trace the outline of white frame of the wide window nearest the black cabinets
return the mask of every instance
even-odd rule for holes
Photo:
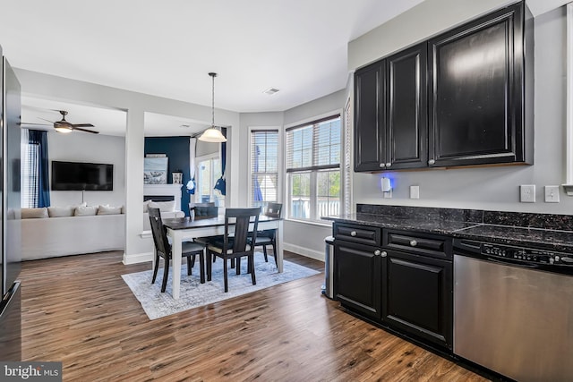
[[[314,116],[312,118],[308,118],[305,119],[303,121],[297,122],[297,123],[290,123],[288,125],[285,126],[285,149],[284,149],[284,161],[285,161],[285,179],[286,179],[286,187],[285,187],[285,218],[286,220],[292,220],[292,221],[298,221],[298,222],[304,222],[304,223],[312,223],[312,224],[319,224],[319,225],[329,225],[328,222],[321,220],[321,216],[318,216],[318,187],[317,187],[317,177],[318,177],[318,173],[321,171],[332,171],[332,170],[338,170],[338,172],[340,173],[340,192],[339,192],[339,213],[342,214],[343,213],[343,209],[344,209],[344,203],[343,203],[343,198],[344,198],[344,193],[345,191],[343,190],[343,179],[344,179],[344,153],[346,150],[346,141],[345,141],[345,125],[344,125],[344,120],[343,120],[343,111],[342,110],[335,110],[329,113],[325,113],[323,115],[317,115]],[[307,125],[312,125],[312,124],[316,124],[316,123],[322,123],[325,121],[328,121],[330,119],[336,119],[339,118],[339,123],[340,123],[340,137],[339,137],[339,141],[340,141],[340,158],[339,158],[339,162],[338,162],[338,167],[333,167],[333,166],[311,166],[311,167],[301,167],[299,169],[296,170],[288,170],[287,167],[287,156],[288,156],[288,142],[286,140],[286,133],[289,131],[292,131],[298,127],[303,128],[304,126]],[[312,140],[314,140],[315,137],[312,138]],[[313,142],[313,149],[314,149],[314,142]],[[312,165],[314,165],[314,153],[312,153]],[[291,195],[291,189],[292,189],[292,175],[291,174],[310,174],[310,196],[309,196],[309,210],[310,210],[310,214],[309,214],[309,218],[305,218],[305,217],[298,217],[298,216],[293,216],[293,211],[291,210],[291,205],[292,205],[292,195]]]

